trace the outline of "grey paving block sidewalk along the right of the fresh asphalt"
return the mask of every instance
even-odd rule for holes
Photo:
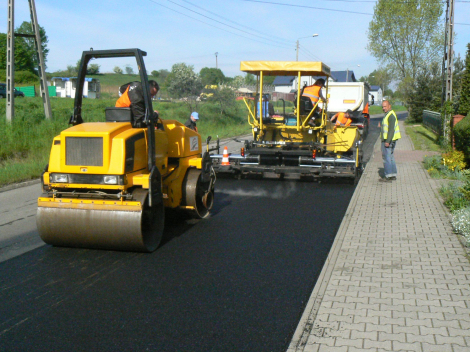
[[[470,264],[402,136],[392,183],[376,143],[288,352],[470,351]]]

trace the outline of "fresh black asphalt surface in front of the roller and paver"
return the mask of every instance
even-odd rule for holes
[[[46,245],[4,261],[0,350],[285,351],[353,192],[219,178],[211,217],[168,214],[154,253]]]

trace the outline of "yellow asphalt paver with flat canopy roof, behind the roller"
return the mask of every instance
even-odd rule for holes
[[[224,158],[212,155],[218,173],[275,173],[313,177],[349,177],[358,180],[363,168],[362,140],[356,126],[335,126],[329,120],[328,100],[318,108],[309,98],[297,94],[294,112],[273,114],[263,94],[265,76],[297,76],[301,92],[302,76],[326,78],[329,97],[330,68],[323,62],[242,61],[240,69],[257,77],[256,99],[244,99],[252,140],[241,141],[240,154]],[[285,102],[284,102],[285,103]],[[262,108],[260,108],[262,106]],[[315,120],[314,125],[308,122]],[[227,160],[228,159],[228,160]]]

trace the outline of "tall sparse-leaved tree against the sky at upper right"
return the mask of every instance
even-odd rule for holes
[[[412,87],[428,63],[439,61],[444,43],[440,0],[378,0],[369,23],[367,49]]]

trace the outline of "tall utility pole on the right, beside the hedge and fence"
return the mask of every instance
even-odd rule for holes
[[[445,46],[444,46],[444,59],[442,63],[444,75],[444,87],[442,103],[452,101],[452,75],[454,69],[454,5],[455,0],[447,0],[446,10],[446,33],[445,33]],[[449,139],[449,119],[447,111],[444,111],[444,140]]]

